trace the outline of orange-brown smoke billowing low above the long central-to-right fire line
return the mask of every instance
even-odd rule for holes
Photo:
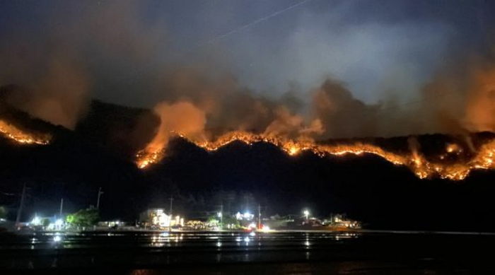
[[[185,100],[202,110],[205,121],[201,135],[209,141],[228,131],[316,141],[495,131],[492,71],[481,69],[477,63],[464,64],[462,70],[438,71],[409,103],[390,98],[366,104],[355,98],[344,83],[328,78],[308,92],[313,98],[310,105],[293,107],[300,106],[297,103],[302,100],[289,95],[289,101],[296,104],[288,104],[285,95],[265,98],[240,88],[231,77],[208,77],[196,70],[174,74],[162,83],[162,89],[169,103]],[[168,117],[168,110],[156,111]],[[177,131],[194,140],[200,134],[190,136],[177,127],[164,126],[166,120],[162,122],[161,131]]]

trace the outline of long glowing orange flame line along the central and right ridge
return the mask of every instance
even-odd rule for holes
[[[187,139],[185,136],[181,135],[181,137]],[[229,132],[214,141],[195,141],[193,139],[187,140],[201,148],[204,148],[206,151],[216,151],[234,141],[240,141],[248,145],[257,142],[274,144],[289,154],[289,156],[297,156],[303,151],[310,151],[320,157],[344,157],[349,155],[362,156],[363,154],[372,154],[375,156],[380,156],[394,165],[407,166],[407,168],[412,170],[412,172],[414,172],[414,174],[421,179],[441,177],[448,180],[462,180],[474,169],[489,170],[495,168],[495,141],[489,141],[480,146],[477,153],[475,153],[470,160],[444,161],[440,156],[439,159],[442,161],[434,162],[426,159],[421,155],[421,153],[415,150],[400,154],[385,151],[379,146],[366,144],[363,142],[356,142],[354,144],[328,145],[318,144],[314,141],[296,141],[273,136],[263,136],[261,134],[251,134],[243,131]],[[462,148],[460,148],[457,144],[448,144],[448,146],[445,147],[445,154],[452,154],[460,151],[462,151]],[[136,164],[139,168],[146,168],[148,165],[158,163],[163,156],[165,156],[165,151],[163,149],[149,153],[146,153],[146,151],[140,151],[136,156]]]

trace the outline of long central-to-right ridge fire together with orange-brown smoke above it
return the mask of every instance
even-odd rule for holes
[[[477,146],[473,146],[472,141],[462,141],[462,145],[433,144],[438,148],[433,154],[425,154],[414,139],[401,150],[366,140],[351,139],[344,144],[322,141],[429,133],[469,136],[467,133],[495,131],[491,96],[494,67],[477,64],[474,69],[467,69],[462,85],[450,83],[454,77],[435,78],[422,90],[414,107],[366,104],[354,98],[344,84],[327,79],[311,91],[312,100],[307,109],[298,110],[290,98],[257,98],[243,93],[235,84],[229,86],[221,81],[200,83],[191,88],[190,81],[177,76],[182,81],[175,80],[178,83],[170,90],[191,92],[182,97],[185,99],[165,100],[156,105],[154,111],[161,124],[155,137],[137,154],[136,163],[139,168],[157,163],[163,158],[170,137],[178,135],[206,151],[242,141],[274,144],[291,156],[302,151],[322,157],[373,154],[394,165],[406,166],[421,179],[463,180],[472,170],[495,168],[495,139]],[[174,79],[170,82],[175,83]],[[456,98],[455,102],[451,102],[451,98]]]

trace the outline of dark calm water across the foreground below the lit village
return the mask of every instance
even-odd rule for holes
[[[0,235],[0,274],[495,274],[495,236],[453,233]]]

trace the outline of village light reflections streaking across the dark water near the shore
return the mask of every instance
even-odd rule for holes
[[[291,251],[296,253],[298,249],[305,250],[301,254],[302,259],[311,259],[313,250],[318,247],[331,244],[332,242],[343,242],[351,238],[359,238],[359,233],[307,233],[307,232],[85,232],[85,233],[29,233],[28,235],[18,235],[21,242],[11,244],[0,243],[0,247],[8,250],[28,249],[28,250],[57,250],[57,254],[63,250],[84,249],[87,251],[104,251],[105,249],[122,249],[130,252],[137,247],[146,249],[156,249],[156,258],[149,260],[161,263],[169,262],[168,257],[173,254],[168,252],[180,248],[177,251],[204,251],[211,253],[211,257],[216,262],[241,261],[251,262],[259,260],[258,253],[268,253],[264,251]],[[144,250],[146,251],[146,250]],[[243,251],[240,254],[228,254],[233,251]],[[252,254],[256,252],[255,254]],[[93,253],[93,252],[91,252]],[[285,252],[284,252],[285,253]],[[187,253],[183,254],[187,257]],[[228,255],[228,256],[227,256]],[[82,257],[82,256],[81,256]],[[89,257],[89,256],[88,256]],[[95,264],[94,257],[81,258],[81,261],[88,264]],[[172,256],[170,256],[172,257]],[[175,257],[175,256],[173,256]],[[50,259],[50,266],[59,267],[61,264],[72,264],[66,260]],[[146,259],[146,258],[144,258]],[[148,260],[148,259],[146,259]],[[36,257],[18,262],[21,267],[40,267]],[[31,261],[31,262],[29,262]],[[54,261],[54,262],[52,262]],[[176,262],[177,259],[170,258]],[[45,263],[44,263],[45,264]],[[98,264],[98,261],[96,262]],[[41,265],[41,267],[45,267]],[[47,266],[49,267],[49,266]]]

